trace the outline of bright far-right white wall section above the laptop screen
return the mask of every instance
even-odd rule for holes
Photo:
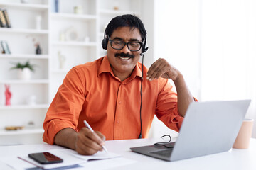
[[[251,0],[202,1],[201,98],[252,99],[247,118],[256,118],[255,8]]]

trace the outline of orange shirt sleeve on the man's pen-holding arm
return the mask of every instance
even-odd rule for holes
[[[55,135],[64,128],[77,130],[78,118],[85,101],[85,83],[73,68],[63,80],[46,113],[43,141],[54,144]]]

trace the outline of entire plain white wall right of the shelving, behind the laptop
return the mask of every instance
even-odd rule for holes
[[[154,1],[154,60],[178,68],[200,101],[252,99],[246,117],[256,118],[255,8],[255,0]],[[157,123],[154,137],[166,132]]]

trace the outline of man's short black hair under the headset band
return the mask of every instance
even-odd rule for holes
[[[105,38],[107,38],[107,35],[111,37],[113,31],[119,27],[129,27],[131,29],[138,28],[139,33],[142,36],[142,41],[144,42],[144,40],[146,39],[146,29],[144,27],[144,24],[137,16],[131,14],[116,16],[112,18],[105,30]]]

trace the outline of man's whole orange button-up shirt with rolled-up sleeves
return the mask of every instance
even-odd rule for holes
[[[144,66],[143,66],[144,67]],[[147,69],[144,67],[144,77]],[[102,132],[106,140],[136,139],[141,130],[140,86],[142,64],[130,77],[115,77],[107,57],[78,65],[66,75],[43,123],[43,140],[53,145],[57,132],[85,127]],[[177,95],[168,79],[143,80],[142,137],[148,135],[154,115],[172,130],[178,131],[183,117],[178,114]]]

